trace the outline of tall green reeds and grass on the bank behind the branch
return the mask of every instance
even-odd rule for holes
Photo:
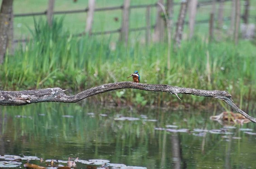
[[[171,69],[167,70],[167,44],[147,46],[130,41],[125,48],[111,38],[77,38],[64,31],[62,20],[55,21],[51,29],[43,21],[36,22],[32,34],[35,40],[19,44],[15,54],[7,54],[0,66],[1,90],[61,87],[76,93],[103,83],[126,81],[138,70],[142,83],[227,90],[240,106],[244,100],[256,99],[256,47],[249,41],[240,41],[237,46],[228,40],[208,43],[197,37],[184,41],[178,51],[171,52]],[[180,97],[190,103],[205,100]],[[140,105],[178,101],[166,93],[139,90],[120,90],[94,98]]]

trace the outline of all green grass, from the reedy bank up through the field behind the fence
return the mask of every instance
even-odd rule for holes
[[[47,2],[37,0],[14,1],[15,13],[44,11]],[[117,3],[118,2],[118,3]],[[140,4],[155,1],[139,1]],[[132,1],[132,4],[135,2]],[[97,1],[100,6],[121,5],[122,1]],[[136,3],[138,4],[138,3]],[[72,10],[87,6],[78,0],[56,0],[55,9]],[[230,2],[226,2],[230,6]],[[30,9],[30,10],[29,10]],[[199,8],[197,20],[207,19],[210,6]],[[175,8],[178,15],[179,7]],[[152,10],[154,24],[155,10]],[[228,11],[225,15],[228,16]],[[121,11],[95,13],[94,31],[112,30],[120,27],[114,17],[121,19]],[[62,19],[61,19],[62,18]],[[176,17],[177,18],[177,17]],[[237,46],[230,37],[222,41],[208,42],[208,24],[198,24],[195,37],[186,40],[187,28],[181,48],[171,52],[171,69],[167,70],[166,43],[146,45],[144,32],[131,33],[127,48],[118,43],[118,35],[74,37],[82,32],[86,14],[56,17],[50,29],[44,17],[15,18],[15,37],[30,36],[34,41],[17,44],[15,54],[7,54],[0,65],[0,90],[40,89],[60,87],[71,93],[99,84],[126,81],[127,76],[138,70],[142,83],[162,83],[172,86],[205,90],[227,90],[240,108],[246,108],[256,100],[255,42],[240,40]],[[145,9],[131,10],[130,27],[145,26]],[[225,22],[227,25],[228,22]],[[20,27],[18,27],[18,25]],[[152,30],[153,31],[153,30]],[[223,28],[223,34],[227,29]],[[112,49],[111,46],[115,46]],[[209,53],[209,62],[206,54]],[[209,65],[207,69],[207,65]],[[180,96],[182,103],[212,103],[204,97]],[[120,90],[93,97],[95,100],[113,101],[135,105],[170,105],[178,101],[175,96],[138,90]],[[250,105],[250,108],[254,108]]]

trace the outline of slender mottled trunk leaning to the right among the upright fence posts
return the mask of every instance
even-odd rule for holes
[[[175,46],[176,47],[180,46],[180,42],[182,39],[184,20],[185,20],[186,12],[187,12],[187,4],[188,4],[187,1],[184,1],[181,3],[180,14],[179,14],[179,18],[178,18],[177,27],[176,27],[176,33],[175,33]]]

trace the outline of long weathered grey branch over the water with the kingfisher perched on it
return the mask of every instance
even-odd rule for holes
[[[153,92],[167,92],[178,96],[178,94],[192,94],[195,96],[205,96],[213,97],[217,99],[224,100],[226,104],[236,110],[238,113],[242,114],[245,118],[256,123],[256,119],[249,116],[247,113],[239,109],[231,99],[231,95],[226,91],[207,91],[193,88],[180,88],[169,86],[166,84],[144,84],[144,83],[134,83],[134,82],[116,82],[103,84],[94,88],[87,89],[73,96],[67,96],[60,88],[47,88],[39,90],[23,90],[23,91],[1,91],[0,90],[0,105],[7,106],[21,106],[28,105],[31,103],[38,102],[66,102],[74,103],[79,100],[85,99],[87,97],[97,95],[100,93],[105,93],[117,89],[140,89]]]

